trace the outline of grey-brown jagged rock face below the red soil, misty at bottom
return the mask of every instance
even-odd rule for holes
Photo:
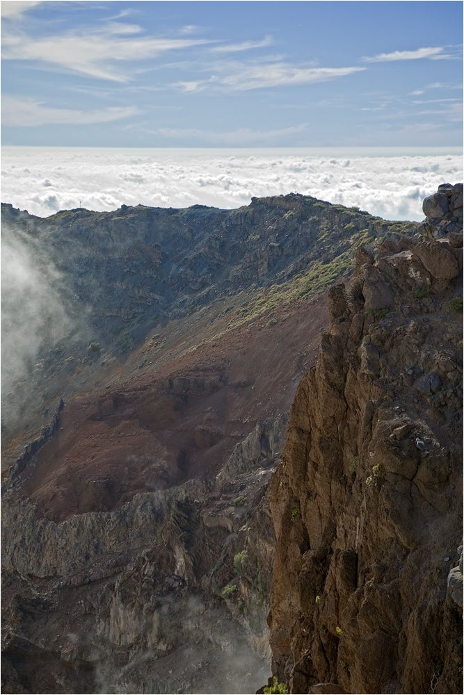
[[[287,422],[258,424],[216,480],[113,512],[56,524],[7,489],[2,692],[254,692],[269,675],[266,492]]]

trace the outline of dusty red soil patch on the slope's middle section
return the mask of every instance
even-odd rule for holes
[[[17,493],[36,500],[40,516],[64,521],[216,475],[257,420],[289,410],[317,359],[326,297],[295,302],[275,318],[273,326],[257,320],[179,357],[170,345],[174,359],[161,366],[140,368],[150,352],[141,348],[65,404],[58,431],[20,476]]]

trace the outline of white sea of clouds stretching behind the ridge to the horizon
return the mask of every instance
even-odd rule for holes
[[[306,154],[308,153],[308,154]],[[422,199],[462,180],[459,154],[329,156],[310,151],[3,147],[1,200],[33,215],[122,203],[238,208],[303,193],[387,220],[422,220]]]

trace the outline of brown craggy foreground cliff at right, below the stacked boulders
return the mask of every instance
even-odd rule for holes
[[[360,250],[330,290],[270,490],[289,692],[462,692],[460,241]]]

